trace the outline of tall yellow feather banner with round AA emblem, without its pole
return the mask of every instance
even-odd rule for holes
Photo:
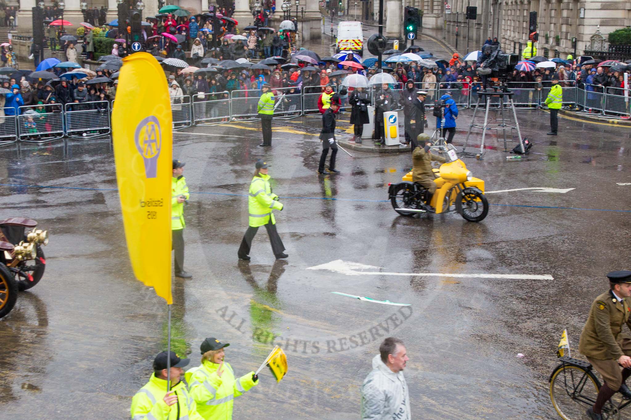
[[[172,304],[169,99],[164,71],[151,54],[123,59],[112,137],[127,250],[136,278]]]

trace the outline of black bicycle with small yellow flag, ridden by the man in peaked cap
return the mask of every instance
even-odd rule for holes
[[[587,419],[586,411],[596,402],[601,383],[586,361],[563,356],[551,373],[550,399],[563,420]],[[631,404],[616,393],[603,406],[603,419],[618,420],[620,411]]]

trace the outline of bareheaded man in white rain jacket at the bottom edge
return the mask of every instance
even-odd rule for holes
[[[410,420],[410,394],[403,377],[410,360],[403,341],[388,337],[372,359],[372,371],[362,385],[362,420]]]

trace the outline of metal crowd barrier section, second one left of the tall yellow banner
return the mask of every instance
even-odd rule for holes
[[[64,113],[59,103],[20,106],[18,112],[18,139],[21,142],[45,143],[64,137]]]

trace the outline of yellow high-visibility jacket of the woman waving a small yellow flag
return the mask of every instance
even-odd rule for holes
[[[189,394],[196,402],[197,411],[206,420],[232,419],[233,400],[259,383],[252,380],[254,372],[235,378],[232,366],[228,362],[223,362],[221,377],[217,375],[218,368],[217,363],[205,360],[184,375],[189,384]]]

